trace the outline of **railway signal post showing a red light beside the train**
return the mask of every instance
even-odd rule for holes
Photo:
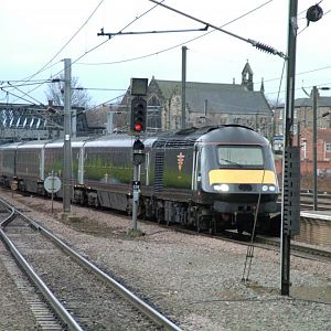
[[[146,132],[147,126],[147,78],[131,78],[131,116],[130,135],[135,136],[132,146],[134,179],[132,179],[132,231],[137,232],[137,214],[140,194],[140,166],[145,162],[145,146],[140,136]]]

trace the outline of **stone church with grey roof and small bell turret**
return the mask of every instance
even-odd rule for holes
[[[172,130],[182,127],[182,82],[152,77],[148,86],[148,130]],[[130,105],[130,93],[121,102]],[[129,109],[128,109],[129,110]],[[185,127],[239,124],[270,137],[271,108],[264,85],[254,90],[253,71],[247,61],[241,84],[185,82]]]

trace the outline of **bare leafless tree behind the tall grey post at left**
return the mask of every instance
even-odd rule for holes
[[[64,75],[60,76],[57,83],[50,83],[47,85],[47,92],[45,92],[47,100],[53,100],[54,106],[64,105]],[[79,87],[78,78],[72,77],[72,106],[76,107],[89,107],[92,97],[87,90]]]

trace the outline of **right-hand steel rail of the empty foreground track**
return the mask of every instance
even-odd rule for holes
[[[66,245],[63,241],[61,241],[60,238],[54,236],[50,231],[47,231],[46,228],[44,228],[43,226],[38,224],[35,221],[33,221],[29,216],[21,213],[20,211],[17,210],[15,213],[19,214],[21,217],[23,217],[25,221],[28,221],[30,223],[30,225],[33,226],[36,231],[39,231],[45,237],[50,238],[53,243],[55,243],[61,249],[63,249],[65,253],[67,253],[77,263],[79,263],[84,267],[94,271],[97,277],[99,277],[103,281],[105,281],[107,285],[109,285],[121,297],[125,297],[132,306],[135,306],[145,316],[148,316],[158,325],[163,327],[166,330],[170,330],[170,331],[181,331],[181,329],[178,325],[175,325],[172,321],[167,319],[164,316],[162,316],[156,309],[150,307],[148,303],[146,303],[139,297],[135,296],[132,292],[130,292],[128,289],[126,289],[122,285],[120,285],[118,281],[113,279],[109,275],[107,275],[103,270],[98,269],[94,264],[92,264],[86,258],[84,258],[78,253],[76,253],[73,248],[71,248],[68,245]]]

